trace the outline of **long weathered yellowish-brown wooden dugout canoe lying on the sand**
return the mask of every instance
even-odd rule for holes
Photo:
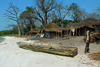
[[[76,47],[59,47],[52,45],[36,45],[25,42],[17,42],[17,44],[24,49],[29,49],[37,52],[45,52],[56,55],[70,56],[74,57],[77,55],[78,49]]]

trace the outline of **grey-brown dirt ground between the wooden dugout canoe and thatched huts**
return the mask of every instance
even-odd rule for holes
[[[49,45],[66,46],[66,47],[77,47],[78,54],[84,54],[86,43],[83,41],[84,36],[68,36],[62,39],[46,39],[40,37],[27,37],[28,40],[37,40],[36,42],[42,42]],[[100,52],[100,43],[90,43],[90,53]],[[88,54],[90,54],[88,53]]]

